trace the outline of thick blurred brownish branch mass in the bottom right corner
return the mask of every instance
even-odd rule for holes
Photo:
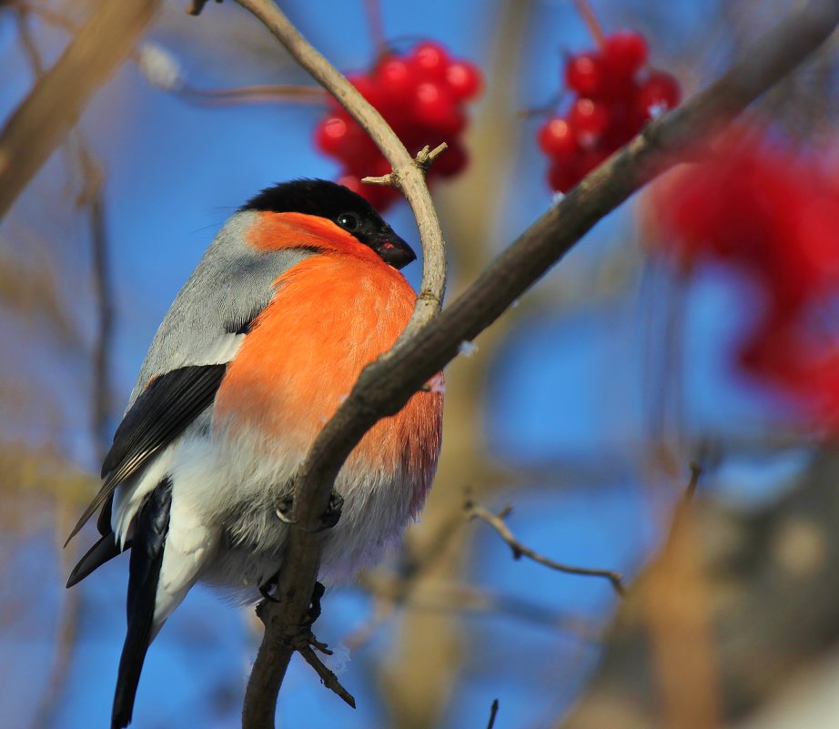
[[[834,652],[837,481],[839,456],[825,449],[795,491],[762,511],[695,501],[622,602],[597,673],[557,725],[733,725]]]

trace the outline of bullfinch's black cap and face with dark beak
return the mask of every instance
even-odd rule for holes
[[[239,210],[303,213],[327,218],[376,251],[393,268],[407,266],[417,258],[367,200],[349,188],[325,179],[296,179],[266,187]]]

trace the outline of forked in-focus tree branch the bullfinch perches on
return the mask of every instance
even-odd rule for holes
[[[500,317],[521,294],[559,261],[601,218],[654,177],[691,158],[766,89],[820,46],[839,24],[839,3],[815,0],[790,15],[731,66],[703,94],[653,122],[561,202],[526,230],[440,316],[441,284],[429,279],[444,270],[436,215],[424,181],[389,127],[346,79],[320,56],[268,0],[239,0],[268,26],[292,56],[327,86],[374,138],[393,165],[418,219],[425,251],[423,287],[414,319],[394,349],[369,365],[349,398],[318,435],[296,480],[290,538],[276,592],[280,603],[265,611],[266,634],[245,699],[246,729],[272,727],[279,687],[314,587],[324,535],[308,531],[326,510],[331,485],[363,435],[381,418],[398,412],[410,396]],[[421,182],[421,185],[420,185]],[[418,189],[419,187],[419,189]],[[430,241],[434,241],[430,245]],[[428,246],[428,247],[427,247]],[[422,326],[422,322],[434,319]],[[303,497],[305,494],[305,497]]]

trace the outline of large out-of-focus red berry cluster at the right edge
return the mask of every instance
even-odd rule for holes
[[[763,137],[727,140],[713,160],[659,187],[663,243],[690,267],[746,271],[763,309],[743,342],[743,369],[781,387],[839,429],[839,175]]]

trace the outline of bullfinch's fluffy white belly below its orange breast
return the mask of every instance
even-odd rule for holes
[[[170,539],[207,542],[200,545],[200,553],[194,550],[201,563],[192,582],[197,578],[226,588],[237,602],[258,600],[259,585],[281,567],[289,527],[277,515],[278,502],[290,495],[291,480],[305,454],[282,441],[272,443],[269,451],[256,452],[248,445],[252,442],[247,437],[223,439],[198,425],[187,430],[161,453],[147,478],[117,495],[117,534],[128,534],[129,521],[145,495],[168,475]],[[344,502],[339,522],[324,542],[319,579],[349,579],[397,542],[416,507],[415,488],[419,484],[401,471],[393,474],[377,464],[350,459],[336,481]]]

